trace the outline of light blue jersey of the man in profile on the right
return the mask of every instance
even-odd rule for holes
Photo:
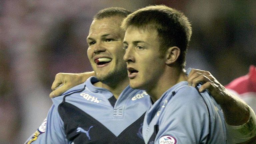
[[[220,106],[207,92],[180,82],[146,112],[142,130],[146,144],[225,144]]]

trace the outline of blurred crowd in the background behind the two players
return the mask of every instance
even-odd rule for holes
[[[176,8],[192,22],[187,67],[208,70],[225,85],[256,65],[253,0],[1,0],[0,144],[24,143],[38,128],[57,73],[92,70],[86,37],[94,14],[153,4]]]

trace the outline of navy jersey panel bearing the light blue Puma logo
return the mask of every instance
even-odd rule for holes
[[[58,111],[64,122],[66,138],[75,144],[102,144],[115,139],[104,125],[70,103],[60,104]]]

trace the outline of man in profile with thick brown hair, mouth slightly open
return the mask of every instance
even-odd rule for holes
[[[130,86],[146,90],[153,102],[143,123],[145,143],[225,144],[221,108],[207,92],[188,86],[187,17],[164,5],[148,6],[126,17],[122,28]]]

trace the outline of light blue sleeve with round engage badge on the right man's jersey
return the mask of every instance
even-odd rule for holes
[[[191,89],[177,93],[160,112],[159,131],[155,144],[207,143],[209,113],[199,93]]]

